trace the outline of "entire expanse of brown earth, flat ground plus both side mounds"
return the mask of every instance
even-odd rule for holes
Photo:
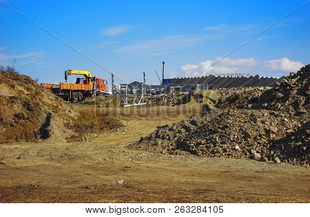
[[[309,65],[270,90],[74,110],[28,76],[0,76],[1,203],[309,203]],[[79,129],[118,128],[68,143],[75,111]]]

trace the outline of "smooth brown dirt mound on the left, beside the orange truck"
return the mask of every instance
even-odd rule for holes
[[[0,72],[0,143],[63,141],[76,112],[30,77]]]

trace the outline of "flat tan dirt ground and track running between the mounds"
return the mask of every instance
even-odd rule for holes
[[[309,169],[234,158],[155,154],[127,145],[199,114],[200,105],[93,107],[125,127],[74,143],[0,145],[4,203],[309,203]]]

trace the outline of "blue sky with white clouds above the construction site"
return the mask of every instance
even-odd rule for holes
[[[3,1],[3,0],[1,0]],[[39,82],[64,81],[70,68],[110,81],[158,83],[166,77],[210,73],[282,76],[309,63],[310,3],[223,61],[234,48],[306,0],[295,1],[5,1],[84,56],[0,1],[0,64]],[[203,72],[203,73],[200,73]]]

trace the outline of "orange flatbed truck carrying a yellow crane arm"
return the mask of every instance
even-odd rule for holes
[[[75,83],[67,83],[70,75],[82,77],[77,77]],[[89,96],[109,94],[109,92],[107,92],[107,81],[92,77],[90,71],[85,70],[67,70],[65,71],[65,83],[41,83],[41,86],[52,90],[57,96],[71,101],[72,103],[83,101],[83,99]]]

